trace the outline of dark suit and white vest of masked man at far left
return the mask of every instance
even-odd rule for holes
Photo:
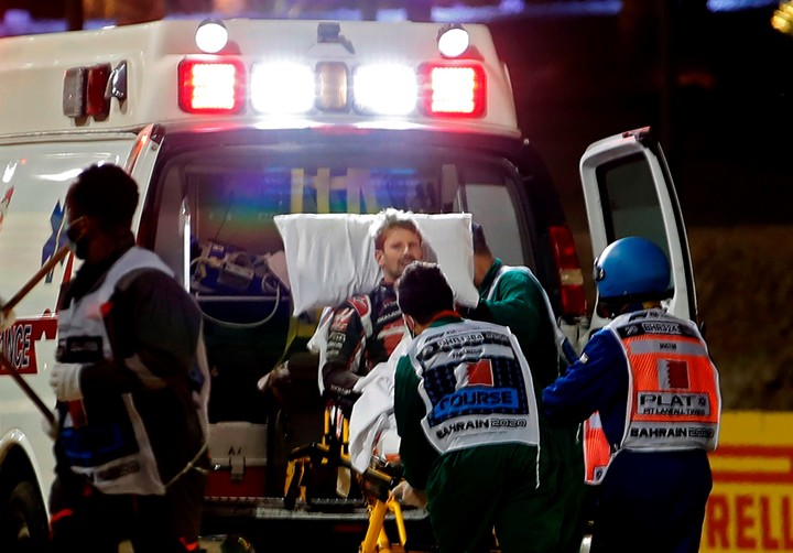
[[[189,295],[154,253],[130,242],[70,282],[56,355],[83,366],[84,395],[57,405],[58,551],[83,540],[91,551],[118,551],[126,538],[137,551],[197,545],[208,375]]]

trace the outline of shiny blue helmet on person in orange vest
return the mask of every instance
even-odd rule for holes
[[[630,236],[608,245],[595,260],[593,278],[601,301],[663,300],[672,295],[666,256],[645,238]]]

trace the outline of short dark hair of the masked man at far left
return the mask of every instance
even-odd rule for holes
[[[79,174],[66,194],[66,204],[110,230],[132,226],[138,198],[134,180],[118,165],[106,163],[91,165]]]

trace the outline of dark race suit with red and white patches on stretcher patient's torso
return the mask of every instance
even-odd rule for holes
[[[387,361],[405,332],[393,284],[381,282],[369,294],[347,300],[330,319],[322,370],[325,390],[351,408],[359,395],[354,391],[358,379]]]

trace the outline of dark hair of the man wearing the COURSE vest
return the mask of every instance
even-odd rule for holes
[[[441,268],[426,261],[409,264],[397,285],[402,313],[425,324],[437,313],[454,308],[454,293]]]

